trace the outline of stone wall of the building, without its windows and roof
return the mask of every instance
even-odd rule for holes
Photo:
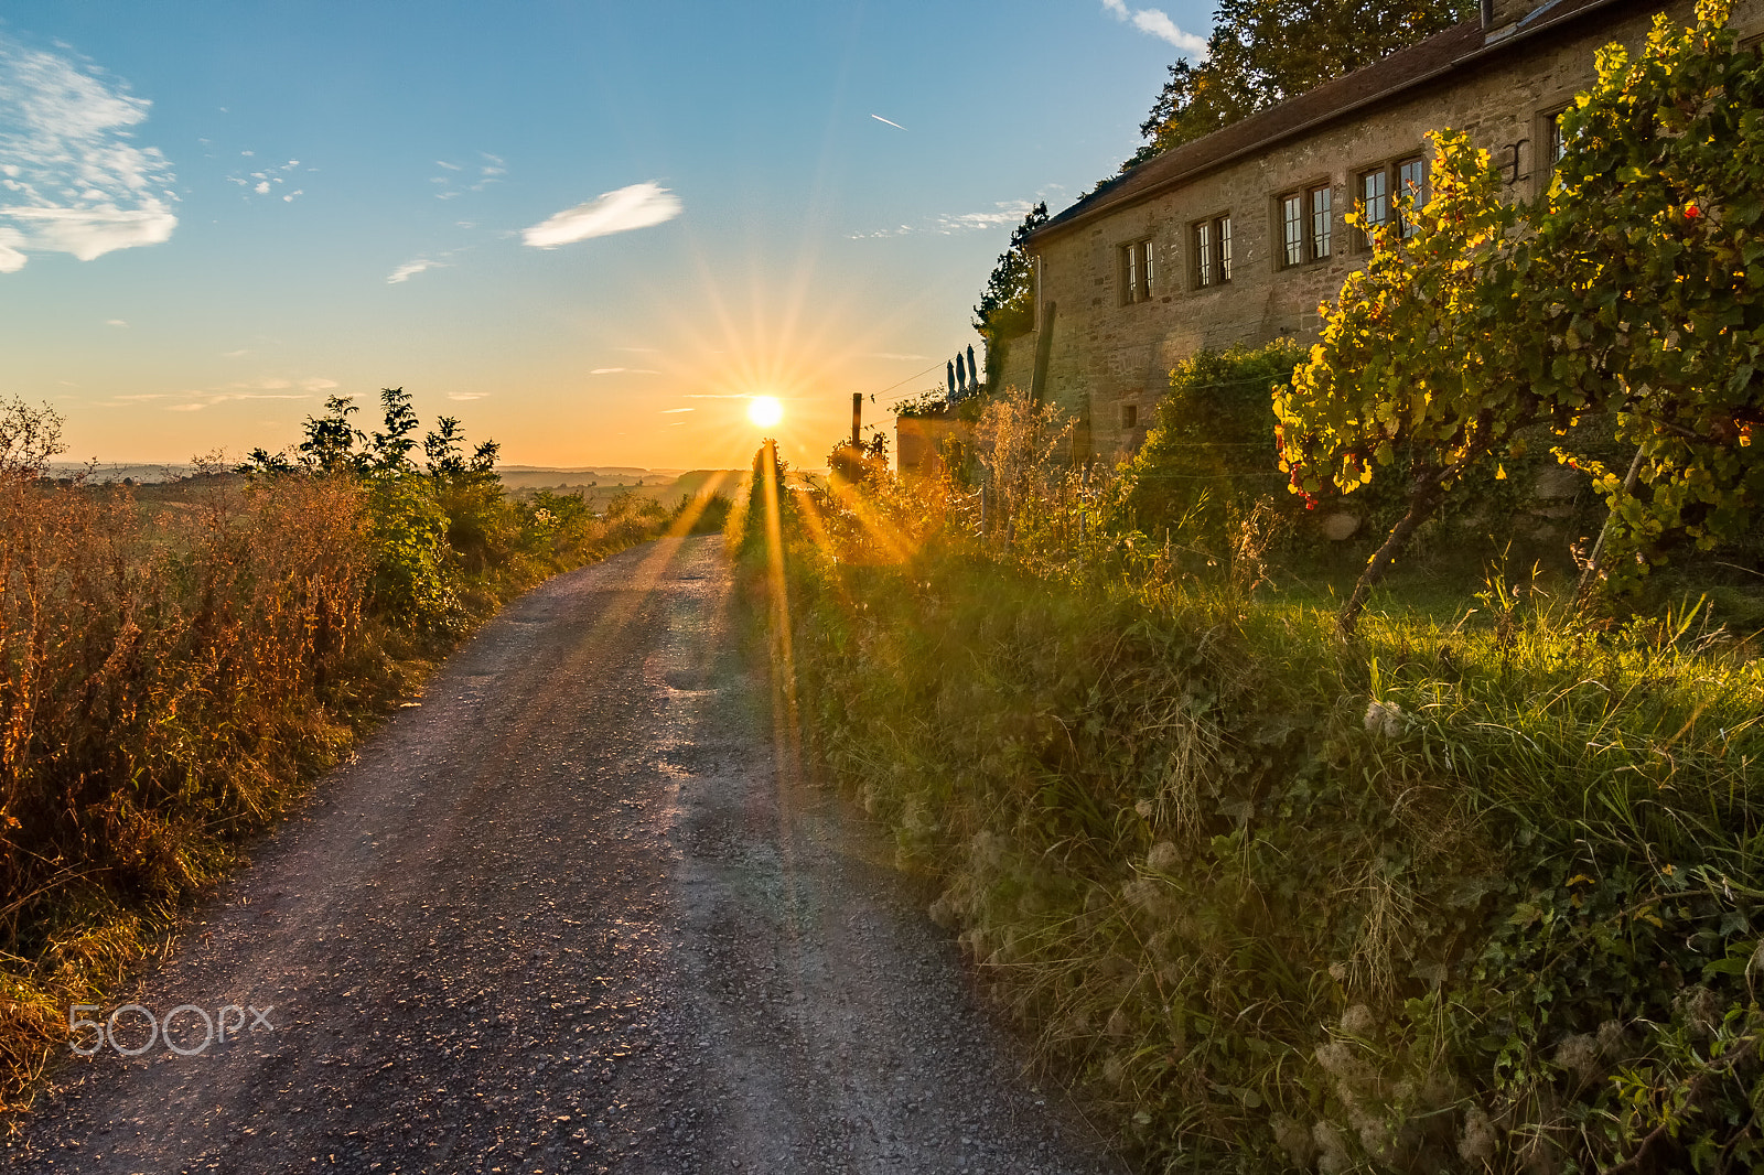
[[[1623,7],[1621,16],[1589,16],[1584,26],[1515,44],[1473,76],[1411,90],[1039,243],[1041,300],[1055,303],[1046,395],[1088,425],[1087,455],[1131,455],[1155,416],[1171,367],[1196,349],[1314,337],[1318,303],[1334,298],[1367,256],[1344,222],[1353,185],[1369,168],[1420,153],[1429,131],[1466,131],[1506,166],[1517,194],[1531,196],[1547,183],[1540,161],[1549,118],[1591,85],[1600,46],[1644,41],[1651,12]],[[1688,4],[1669,12],[1692,19]],[[1736,5],[1734,23],[1748,34],[1764,26],[1760,16],[1764,0],[1746,0]],[[1275,201],[1323,182],[1334,192],[1332,256],[1282,268]],[[1221,213],[1231,215],[1231,281],[1196,288],[1189,226]],[[1143,238],[1154,249],[1152,296],[1122,305],[1120,249]],[[1016,341],[1007,381],[1028,386],[1034,353],[1032,337]],[[1125,425],[1127,406],[1136,409],[1134,427]]]

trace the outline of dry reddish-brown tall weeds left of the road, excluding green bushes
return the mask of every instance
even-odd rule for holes
[[[0,1096],[351,737],[358,487],[187,505],[0,471]]]

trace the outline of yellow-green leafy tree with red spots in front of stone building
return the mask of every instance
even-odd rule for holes
[[[1558,459],[1607,496],[1623,577],[1674,535],[1715,545],[1764,501],[1764,65],[1736,51],[1725,0],[1611,46],[1563,116],[1549,191],[1508,205],[1485,152],[1432,138],[1413,233],[1374,228],[1365,270],[1325,307],[1323,341],[1275,395],[1281,468],[1314,501],[1408,453],[1409,512],[1342,614],[1445,490],[1549,425]],[[1358,217],[1351,217],[1358,222]],[[1628,485],[1570,429],[1605,413],[1639,453]]]

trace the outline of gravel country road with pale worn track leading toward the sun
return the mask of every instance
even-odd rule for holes
[[[1018,1076],[861,820],[781,782],[718,543],[628,550],[489,625],[134,997],[273,1027],[104,1046],[7,1159],[1122,1170]],[[139,1013],[116,1043],[146,1043]]]

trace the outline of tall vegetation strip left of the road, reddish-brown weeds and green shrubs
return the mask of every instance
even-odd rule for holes
[[[56,450],[0,404],[0,1110],[478,619],[669,520],[415,468],[58,483]]]

